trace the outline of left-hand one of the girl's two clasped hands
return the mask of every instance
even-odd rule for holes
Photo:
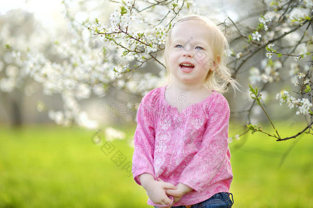
[[[155,181],[153,180],[148,186],[146,186],[146,192],[150,198],[150,200],[154,204],[166,205],[171,202],[171,199],[166,195],[166,190],[176,190],[177,187],[172,183],[167,183],[164,181]],[[173,203],[172,203],[173,204]],[[171,204],[171,205],[172,205]],[[170,206],[162,207],[162,208],[170,208]]]

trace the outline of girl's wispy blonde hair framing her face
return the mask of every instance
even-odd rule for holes
[[[169,50],[171,46],[171,32],[175,25],[183,22],[183,21],[191,21],[197,20],[202,21],[205,26],[209,29],[210,33],[208,34],[210,37],[209,45],[213,54],[213,61],[218,65],[216,70],[208,70],[205,80],[204,86],[208,89],[214,89],[220,93],[224,93],[228,91],[228,83],[234,88],[238,89],[237,84],[240,85],[236,80],[231,78],[231,71],[227,67],[228,64],[228,53],[229,53],[229,44],[226,38],[226,35],[222,33],[222,31],[218,28],[216,24],[214,24],[210,18],[202,15],[187,15],[179,18],[172,27],[169,29],[165,42],[165,50],[164,50],[164,60],[165,66],[167,70],[167,82],[172,82],[172,76],[168,66],[168,56]],[[220,57],[220,61],[218,60]],[[238,89],[241,91],[240,89]],[[235,92],[235,90],[234,90]],[[235,92],[236,93],[236,92]]]

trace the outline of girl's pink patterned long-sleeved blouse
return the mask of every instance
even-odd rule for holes
[[[149,91],[137,111],[132,157],[135,182],[141,185],[139,175],[148,173],[154,180],[159,177],[193,188],[172,206],[196,204],[216,193],[229,192],[233,175],[227,100],[212,90],[210,96],[179,113],[165,100],[166,86]],[[147,204],[169,205],[154,204],[150,198]]]

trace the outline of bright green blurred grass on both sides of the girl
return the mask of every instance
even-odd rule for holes
[[[107,156],[103,136],[101,144],[91,142],[94,131],[1,126],[0,207],[152,207],[146,204],[145,190],[129,175],[131,169],[122,170],[132,160],[128,143],[135,126],[118,128],[127,133],[126,139],[112,141],[115,149]],[[301,128],[278,125],[282,136]],[[229,136],[240,132],[230,125]],[[276,142],[249,133],[229,147],[234,208],[313,207],[313,136]],[[125,157],[120,166],[111,160],[118,151]]]

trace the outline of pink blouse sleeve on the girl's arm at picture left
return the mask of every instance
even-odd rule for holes
[[[134,153],[132,157],[132,174],[136,183],[141,185],[139,175],[148,173],[154,177],[154,125],[153,105],[150,93],[142,99],[137,111],[137,127],[134,133]]]

